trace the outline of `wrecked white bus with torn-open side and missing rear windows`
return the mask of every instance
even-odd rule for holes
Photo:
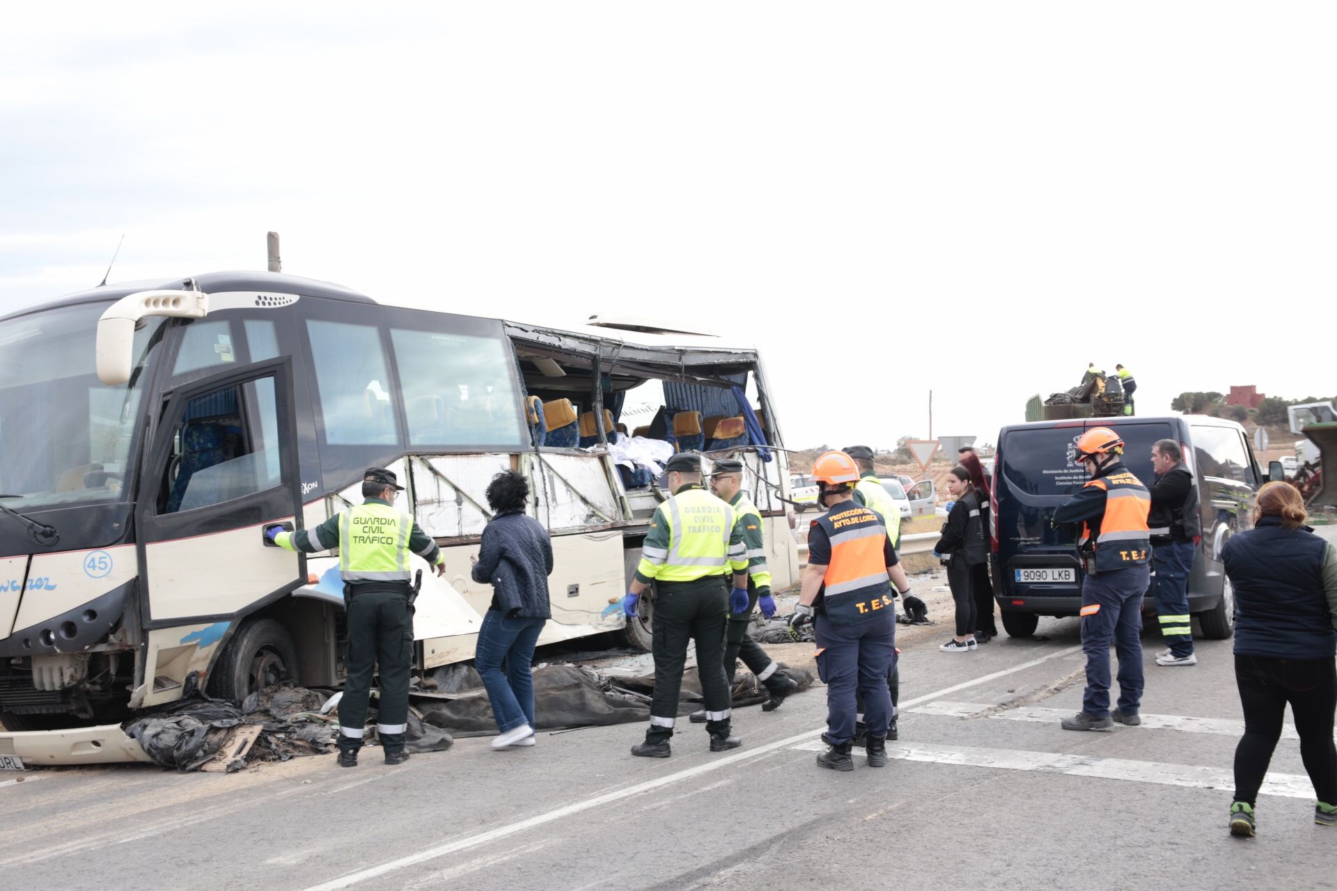
[[[197,689],[342,680],[334,552],[266,546],[393,469],[447,574],[422,580],[417,669],[472,659],[469,576],[501,469],[554,537],[540,644],[616,632],[655,505],[638,454],[745,458],[775,586],[798,557],[761,358],[592,318],[554,329],[384,306],[290,275],[102,286],[0,318],[0,755],[138,757],[118,723]]]

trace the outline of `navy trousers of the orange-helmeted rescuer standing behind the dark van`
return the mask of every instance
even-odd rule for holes
[[[1119,655],[1119,711],[1142,708],[1142,597],[1151,569],[1132,566],[1087,576],[1082,582],[1082,651],[1087,656],[1087,688],[1082,711],[1110,715],[1110,643]]]

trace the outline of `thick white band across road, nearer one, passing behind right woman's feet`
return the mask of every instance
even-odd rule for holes
[[[809,740],[794,745],[796,749],[821,752],[826,749],[821,740]],[[1064,752],[1029,752],[1011,748],[975,748],[971,745],[928,745],[900,743],[886,744],[886,757],[904,761],[927,761],[931,764],[952,764],[953,767],[984,767],[1001,771],[1039,771],[1042,773],[1064,773],[1067,776],[1091,776],[1106,780],[1126,780],[1131,783],[1157,783],[1159,785],[1185,785],[1198,789],[1234,789],[1234,773],[1229,769],[1197,767],[1194,764],[1163,764],[1159,761],[1134,761],[1122,757],[1091,757],[1088,755],[1068,755]],[[1314,797],[1314,787],[1308,776],[1296,773],[1267,773],[1259,789],[1263,795],[1280,795],[1289,799]]]

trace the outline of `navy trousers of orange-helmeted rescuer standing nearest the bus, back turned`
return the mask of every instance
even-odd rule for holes
[[[896,610],[854,625],[832,625],[824,613],[816,622],[817,673],[826,684],[829,745],[853,741],[857,696],[864,697],[864,723],[872,736],[885,736],[892,723],[892,693],[886,677],[896,660]]]

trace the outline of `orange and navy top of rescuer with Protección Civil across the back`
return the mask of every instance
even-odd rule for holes
[[[808,562],[826,566],[813,605],[832,625],[853,625],[882,614],[894,617],[896,600],[886,570],[898,561],[886,528],[873,510],[849,501],[813,520]]]

